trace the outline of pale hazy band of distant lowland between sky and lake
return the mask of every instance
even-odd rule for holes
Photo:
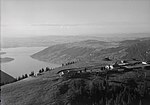
[[[2,37],[2,48],[13,47],[48,47],[62,43],[72,43],[84,40],[98,40],[98,41],[123,41],[135,38],[148,37],[149,33],[131,33],[131,34],[93,34],[93,35],[49,35],[36,37]]]

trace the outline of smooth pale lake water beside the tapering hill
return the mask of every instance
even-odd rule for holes
[[[13,77],[22,76],[23,74],[29,74],[31,71],[35,73],[41,68],[59,67],[58,64],[47,63],[39,61],[30,57],[30,55],[43,50],[46,47],[17,47],[17,48],[3,48],[1,57],[14,58],[13,61],[7,63],[1,63],[1,70],[10,74]]]

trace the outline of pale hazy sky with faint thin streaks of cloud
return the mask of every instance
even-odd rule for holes
[[[1,0],[1,35],[150,33],[150,0]]]

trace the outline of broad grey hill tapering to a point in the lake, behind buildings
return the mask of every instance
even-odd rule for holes
[[[109,57],[120,59],[150,60],[150,38],[139,38],[117,42],[85,40],[50,46],[31,57],[52,63],[70,61],[101,61]]]

